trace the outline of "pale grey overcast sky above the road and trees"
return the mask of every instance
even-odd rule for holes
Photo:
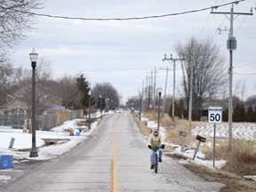
[[[81,18],[130,18],[187,12],[232,1],[199,0],[44,0],[44,9],[37,13]],[[234,6],[235,12],[250,12],[254,0],[246,0]],[[215,12],[230,12],[231,5]],[[34,18],[36,29],[20,42],[12,54],[15,67],[31,68],[28,53],[36,48],[39,57],[45,57],[52,68],[52,78],[84,73],[92,83],[112,84],[123,96],[138,95],[146,76],[156,68],[156,87],[163,87],[165,71],[172,68],[164,59],[164,53],[173,58],[174,45],[185,44],[189,38],[211,37],[220,45],[225,56],[228,76],[228,32],[219,35],[217,28],[229,28],[230,21],[223,14],[211,14],[211,10],[147,20],[63,20],[42,16]],[[244,97],[256,94],[256,22],[253,16],[240,15],[234,21],[237,49],[234,52],[234,86],[240,81],[246,84]],[[228,16],[228,15],[227,15]],[[229,17],[229,16],[228,16]],[[254,75],[237,75],[253,74]],[[180,64],[177,64],[176,86],[179,96]],[[145,83],[144,83],[145,84]],[[167,94],[172,94],[172,71],[169,72]],[[237,95],[240,96],[241,95]]]

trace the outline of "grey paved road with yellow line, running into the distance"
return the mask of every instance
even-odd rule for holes
[[[89,140],[3,191],[220,191],[168,156],[149,169],[146,140],[128,112],[104,117]],[[1,190],[2,191],[2,190]]]

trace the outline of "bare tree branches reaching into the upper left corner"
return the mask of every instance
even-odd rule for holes
[[[32,11],[39,8],[39,0],[0,0],[1,101],[4,100],[3,92],[6,92],[6,89],[9,90],[14,83],[12,75],[16,74],[12,69],[12,64],[7,60],[9,51],[25,37],[25,32],[31,29]]]

